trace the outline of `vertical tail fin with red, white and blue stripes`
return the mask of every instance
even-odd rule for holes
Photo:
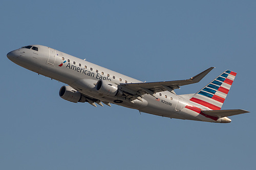
[[[202,105],[203,110],[220,110],[237,73],[226,70],[192,96],[190,101]]]

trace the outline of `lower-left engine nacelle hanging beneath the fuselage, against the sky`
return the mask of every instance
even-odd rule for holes
[[[74,88],[70,86],[62,86],[59,89],[60,98],[70,101],[70,102],[86,102],[86,97],[82,95],[79,91],[76,91]]]

